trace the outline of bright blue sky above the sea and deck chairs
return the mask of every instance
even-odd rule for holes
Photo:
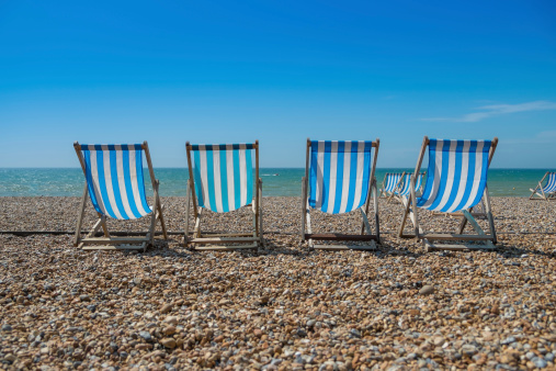
[[[492,167],[556,168],[556,2],[0,0],[0,167],[79,167],[73,142],[489,139]]]

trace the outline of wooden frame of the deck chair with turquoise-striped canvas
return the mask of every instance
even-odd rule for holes
[[[252,211],[252,233],[213,233],[213,232],[201,232],[201,215],[203,207],[197,204],[197,196],[195,193],[195,180],[193,176],[193,166],[191,160],[192,145],[185,143],[185,150],[188,153],[188,167],[190,179],[188,180],[186,191],[186,216],[185,216],[185,229],[183,236],[183,244],[193,250],[236,250],[236,249],[259,249],[259,246],[263,246],[263,232],[262,232],[262,179],[259,178],[259,140],[254,140],[254,177],[256,177],[256,190],[254,201],[246,206],[251,206]],[[190,199],[192,202],[190,202]],[[195,220],[195,226],[190,237],[190,204],[193,203],[193,217]],[[246,207],[242,206],[242,207]],[[243,245],[229,245],[229,244],[243,244]]]

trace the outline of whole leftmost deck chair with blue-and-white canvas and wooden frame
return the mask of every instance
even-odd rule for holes
[[[160,221],[164,239],[168,238],[163,205],[158,195],[159,181],[155,178],[147,142],[143,144],[87,145],[76,142],[73,147],[86,178],[81,210],[79,212],[75,246],[83,250],[137,249],[145,251],[152,245],[155,226]],[[143,178],[143,154],[147,159],[155,204],[149,206]],[[97,211],[99,220],[87,237],[81,238],[81,226],[87,198]],[[106,217],[118,221],[136,220],[150,214],[150,228],[145,237],[111,237]],[[102,227],[103,237],[95,237]]]

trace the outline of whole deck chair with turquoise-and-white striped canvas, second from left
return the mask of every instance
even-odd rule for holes
[[[234,250],[258,248],[262,239],[262,180],[259,179],[259,140],[253,144],[185,144],[190,179],[184,244],[195,250]],[[254,151],[254,193],[253,166]],[[254,194],[254,201],[253,201]],[[189,233],[190,196],[195,227]],[[251,205],[252,233],[202,233],[204,209],[227,213]]]

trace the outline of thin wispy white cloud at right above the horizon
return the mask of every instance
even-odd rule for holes
[[[481,112],[467,113],[461,117],[430,117],[421,119],[421,121],[478,122],[488,117],[515,112],[556,110],[556,102],[534,101],[519,104],[489,104],[478,106],[475,110]]]

